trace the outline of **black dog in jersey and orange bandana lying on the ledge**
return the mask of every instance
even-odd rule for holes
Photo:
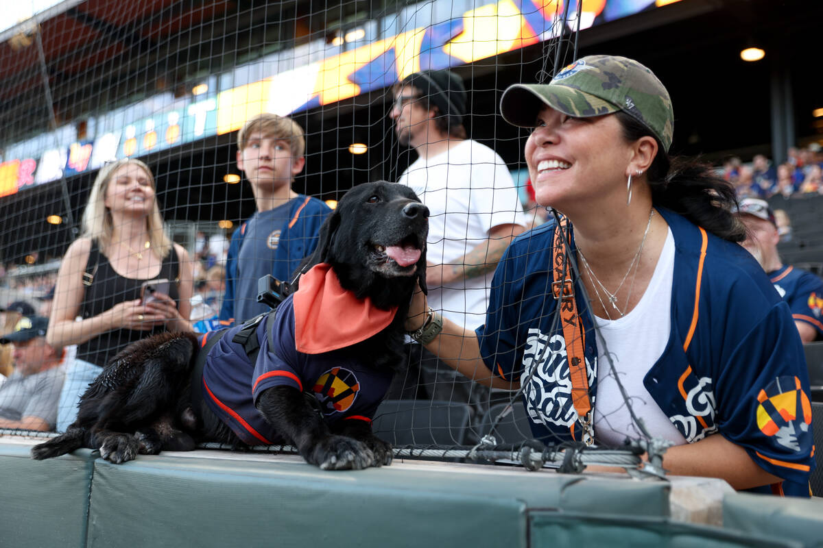
[[[391,463],[391,446],[374,436],[370,417],[402,363],[412,292],[418,284],[425,292],[428,215],[403,185],[354,187],[323,223],[276,311],[210,334],[211,342],[179,333],[130,345],[83,394],[77,421],[32,457],[88,447],[122,463],[193,449],[197,439],[290,443],[323,468]],[[335,302],[336,315],[319,313]],[[360,316],[370,319],[364,329],[347,319]],[[232,392],[238,382],[248,389]]]

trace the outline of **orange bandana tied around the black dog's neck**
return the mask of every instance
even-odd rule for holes
[[[397,306],[380,310],[370,297],[358,299],[340,285],[327,263],[300,276],[295,305],[295,345],[298,352],[320,354],[360,343],[392,323]]]

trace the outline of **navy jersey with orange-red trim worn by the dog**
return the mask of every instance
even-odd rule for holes
[[[314,394],[323,417],[332,425],[342,420],[371,421],[392,380],[393,371],[375,370],[345,349],[319,354],[298,352],[293,297],[286,297],[277,311],[258,325],[257,363],[250,361],[243,345],[232,341],[243,327],[236,325],[212,347],[203,366],[203,398],[245,444],[288,441],[281,439],[254,407],[266,389],[291,386]],[[216,366],[218,361],[220,366]]]

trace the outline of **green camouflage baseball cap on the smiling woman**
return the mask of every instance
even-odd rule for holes
[[[589,55],[548,84],[510,85],[500,99],[500,113],[513,126],[534,127],[545,105],[574,117],[622,110],[648,127],[666,150],[672,146],[672,99],[657,76],[633,59]]]

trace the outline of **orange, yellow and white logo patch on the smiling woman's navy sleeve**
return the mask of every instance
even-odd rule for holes
[[[774,441],[799,451],[797,435],[809,430],[811,403],[800,388],[800,379],[778,377],[757,394],[757,427]]]

